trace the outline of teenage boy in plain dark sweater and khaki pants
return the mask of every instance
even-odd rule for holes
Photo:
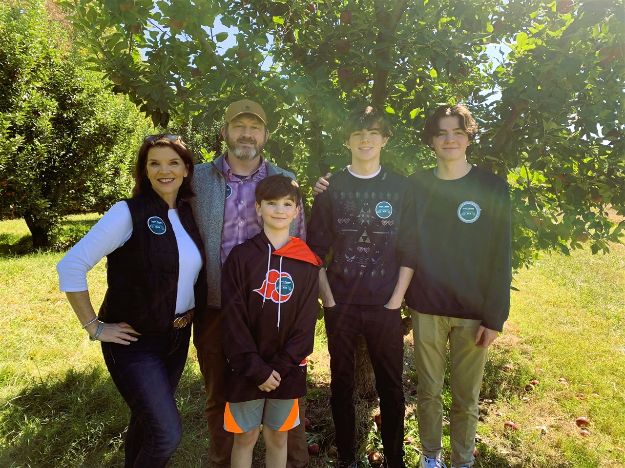
[[[423,141],[436,167],[411,176],[419,264],[406,291],[414,334],[420,468],[441,468],[442,386],[451,358],[451,466],[473,466],[487,348],[510,308],[510,193],[506,180],[466,159],[477,124],[464,105],[441,105]]]

